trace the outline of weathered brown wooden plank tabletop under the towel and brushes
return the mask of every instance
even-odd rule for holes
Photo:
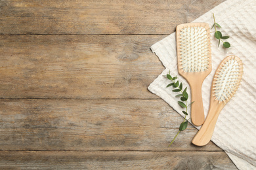
[[[0,169],[236,169],[221,148],[171,147],[182,117],[148,85],[150,46],[224,0],[1,0]]]

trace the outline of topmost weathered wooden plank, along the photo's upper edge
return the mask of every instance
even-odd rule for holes
[[[1,34],[169,34],[224,0],[0,1]]]

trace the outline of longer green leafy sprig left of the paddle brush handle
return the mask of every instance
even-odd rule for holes
[[[186,127],[188,126],[188,120],[186,120],[186,116],[188,116],[188,107],[189,107],[192,103],[194,103],[194,101],[188,105],[188,103],[187,103],[187,100],[188,100],[188,93],[186,92],[186,89],[187,89],[187,88],[185,88],[184,90],[182,90],[182,88],[183,88],[182,82],[180,83],[179,80],[177,80],[177,76],[172,77],[172,76],[170,75],[170,73],[167,74],[166,76],[167,76],[167,78],[168,78],[169,80],[172,81],[172,82],[171,82],[170,84],[168,84],[166,87],[168,88],[168,87],[171,87],[171,86],[172,86],[172,87],[174,88],[174,89],[173,89],[173,92],[180,92],[178,95],[175,95],[175,97],[181,97],[181,98],[180,98],[181,101],[178,101],[178,104],[179,104],[182,108],[185,109],[185,110],[182,111],[182,113],[185,114],[184,120],[183,120],[183,122],[181,123],[181,125],[180,125],[180,127],[179,127],[178,133],[175,135],[175,137],[174,137],[174,139],[173,139],[173,141],[174,141],[174,140],[176,139],[177,135],[179,135],[179,133],[180,133],[181,131],[184,131],[184,129],[186,129]],[[169,144],[169,146],[171,146],[171,144],[173,143],[173,141],[171,141],[171,143]],[[168,147],[169,147],[169,146],[168,146]]]

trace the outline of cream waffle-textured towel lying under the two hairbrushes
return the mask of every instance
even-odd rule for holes
[[[211,141],[228,154],[238,169],[256,169],[256,102],[255,102],[255,73],[256,73],[256,1],[255,0],[229,0],[221,3],[214,9],[200,16],[194,22],[206,22],[213,25],[213,13],[216,22],[221,25],[220,31],[230,38],[231,47],[226,50],[214,38],[214,29],[211,31],[212,71],[203,82],[202,96],[205,117],[209,110],[209,97],[213,75],[221,61],[230,55],[238,56],[244,63],[244,75],[240,88],[236,95],[226,104],[219,115],[215,131]],[[177,103],[175,93],[169,84],[166,75],[179,75],[177,71],[175,33],[162,39],[151,47],[152,52],[160,58],[165,66],[161,73],[148,87],[150,92],[155,93],[165,100],[173,109],[182,114],[182,109]],[[189,85],[179,76],[180,82]],[[188,99],[188,103],[190,99]],[[190,111],[190,110],[189,110]],[[188,116],[187,118],[190,118]],[[200,127],[196,127],[200,129]]]

